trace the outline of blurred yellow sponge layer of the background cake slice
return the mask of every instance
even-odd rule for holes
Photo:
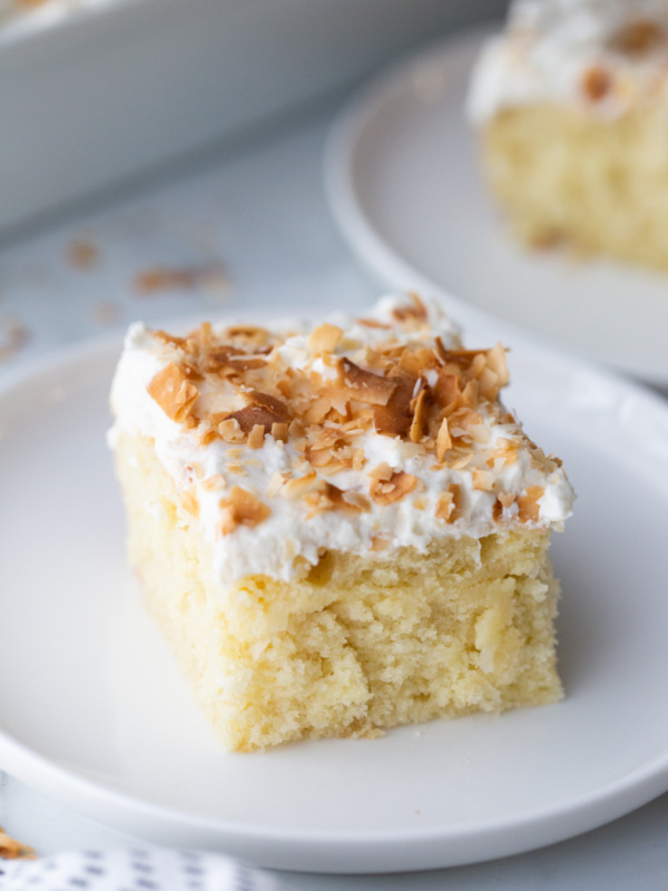
[[[607,119],[559,105],[498,112],[487,178],[517,236],[668,270],[668,105]]]

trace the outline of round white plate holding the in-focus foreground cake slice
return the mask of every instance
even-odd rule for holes
[[[489,342],[471,332],[469,343]],[[564,460],[577,511],[559,705],[219,751],[141,607],[105,431],[117,342],[0,389],[0,766],[149,840],[323,872],[511,854],[668,789],[668,409],[518,340],[507,404]]]

